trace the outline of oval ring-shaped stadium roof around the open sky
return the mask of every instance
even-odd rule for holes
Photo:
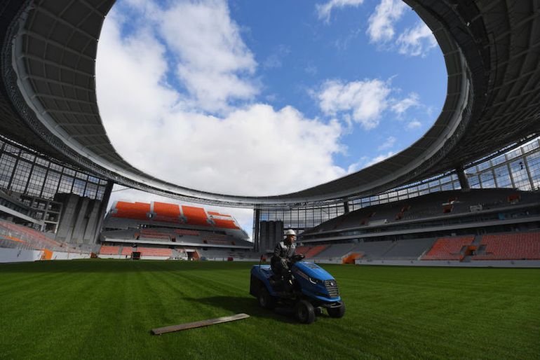
[[[300,205],[372,195],[446,172],[540,130],[540,3],[406,0],[447,67],[433,127],[371,167],[295,193],[208,193],[156,179],[112,146],[95,95],[95,55],[114,0],[0,1],[0,133],[142,191],[216,205]]]

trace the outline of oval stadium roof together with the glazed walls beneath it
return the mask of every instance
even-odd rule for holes
[[[269,230],[269,221],[277,236],[283,226],[302,231],[357,209],[438,191],[538,191],[540,6],[405,2],[431,28],[445,58],[447,97],[434,125],[409,148],[354,174],[295,193],[248,197],[170,184],[116,152],[95,95],[97,42],[114,0],[0,1],[3,214],[56,234],[65,219],[71,230],[56,240],[91,246],[99,240],[112,186],[120,184],[253,208],[259,250],[260,228],[264,223]]]

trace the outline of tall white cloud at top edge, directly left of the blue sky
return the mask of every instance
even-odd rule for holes
[[[204,111],[227,111],[229,102],[259,92],[257,62],[222,0],[183,1],[155,15],[155,26],[179,60],[176,73]]]

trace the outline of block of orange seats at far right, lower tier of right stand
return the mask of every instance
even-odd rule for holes
[[[540,260],[540,233],[484,235],[479,252],[472,260]]]

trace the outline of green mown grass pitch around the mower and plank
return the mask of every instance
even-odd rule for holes
[[[1,359],[540,359],[540,270],[323,265],[347,306],[259,309],[248,263],[0,264]],[[166,335],[158,326],[249,319]]]

